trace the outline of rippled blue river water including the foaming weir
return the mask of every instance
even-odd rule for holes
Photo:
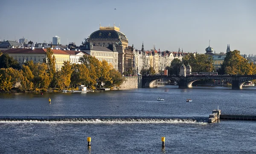
[[[253,154],[255,121],[208,124],[207,117],[217,106],[222,114],[255,115],[255,93],[254,87],[163,86],[0,94],[0,154]]]

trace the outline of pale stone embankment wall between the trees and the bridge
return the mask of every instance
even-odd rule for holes
[[[124,77],[125,81],[119,89],[130,89],[142,87],[142,77]]]

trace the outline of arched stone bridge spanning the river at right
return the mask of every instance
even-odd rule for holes
[[[197,80],[214,79],[224,80],[232,84],[232,89],[242,89],[242,85],[250,80],[256,80],[256,75],[191,75],[191,76],[167,76],[149,75],[142,77],[142,87],[152,87],[151,83],[155,80],[175,80],[179,88],[192,88],[192,83]]]

